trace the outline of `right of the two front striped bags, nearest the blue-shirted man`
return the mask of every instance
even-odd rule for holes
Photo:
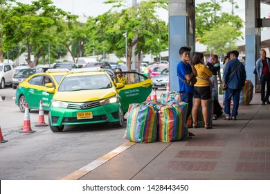
[[[188,136],[186,112],[188,104],[177,101],[156,105],[159,109],[157,139],[163,142],[180,141]]]

